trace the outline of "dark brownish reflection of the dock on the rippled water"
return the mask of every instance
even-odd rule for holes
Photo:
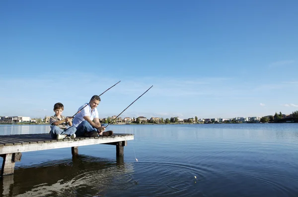
[[[76,155],[69,160],[54,160],[15,169],[14,175],[1,178],[3,197],[100,196],[107,189],[134,186],[132,164],[117,157],[116,163],[104,158]],[[67,195],[66,195],[67,194]]]

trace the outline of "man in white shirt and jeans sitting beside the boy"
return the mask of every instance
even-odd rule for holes
[[[100,98],[97,95],[94,95],[89,104],[85,103],[78,108],[81,110],[74,116],[73,124],[76,127],[76,136],[77,137],[97,137],[100,136],[111,136],[113,131],[106,131],[105,127],[102,127],[98,119],[98,111],[96,107],[100,102]],[[94,120],[94,122],[93,122]]]

